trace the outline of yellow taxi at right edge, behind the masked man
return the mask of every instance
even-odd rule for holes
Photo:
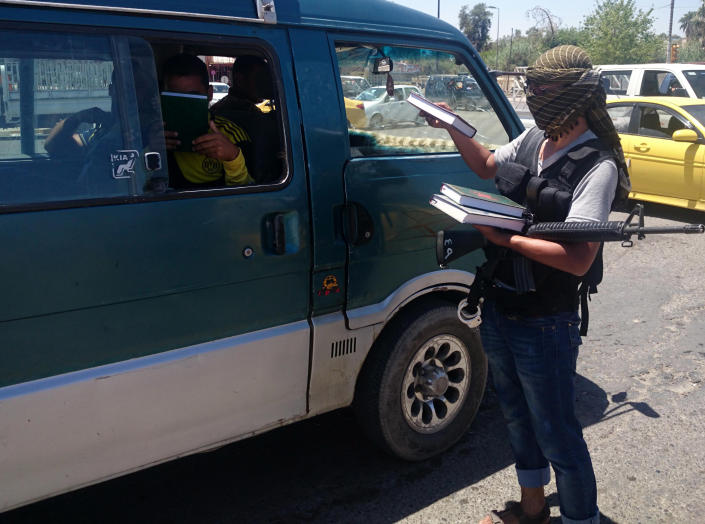
[[[705,211],[705,100],[607,101],[632,181],[630,197]]]

